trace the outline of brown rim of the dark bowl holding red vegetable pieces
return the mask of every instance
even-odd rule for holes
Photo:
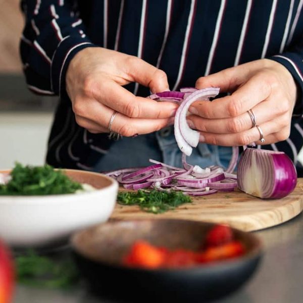
[[[95,260],[93,258],[90,258],[87,255],[82,254],[82,252],[78,249],[78,247],[75,244],[77,238],[79,238],[81,236],[81,234],[83,234],[87,230],[97,228],[98,226],[101,226],[101,225],[115,224],[115,223],[120,223],[120,222],[138,222],[138,221],[155,221],[156,222],[159,220],[163,220],[163,221],[169,220],[169,221],[175,221],[175,222],[177,222],[177,221],[178,222],[195,222],[197,224],[203,224],[203,225],[209,225],[209,226],[214,226],[214,225],[219,224],[219,223],[206,222],[206,221],[193,221],[193,220],[168,219],[168,218],[149,218],[149,219],[138,218],[138,219],[129,219],[129,220],[114,219],[111,221],[107,221],[105,223],[98,223],[98,224],[95,224],[88,228],[76,231],[70,237],[70,241],[69,241],[70,246],[75,254],[79,255],[81,258],[87,259],[90,262],[94,262],[94,263],[102,265],[102,266],[111,267],[111,268],[120,269],[120,270],[129,270],[129,271],[133,271],[133,272],[150,272],[150,273],[186,273],[186,272],[192,272],[192,271],[213,270],[213,269],[219,268],[219,267],[220,268],[229,267],[230,264],[233,264],[233,265],[237,264],[237,263],[239,264],[239,263],[245,262],[247,260],[260,259],[264,254],[264,247],[263,247],[263,243],[262,243],[262,240],[260,239],[260,237],[256,236],[252,232],[242,231],[240,229],[237,229],[237,228],[234,228],[231,226],[230,226],[230,228],[233,231],[236,231],[243,235],[249,235],[249,237],[255,241],[256,246],[251,251],[249,251],[248,253],[246,253],[245,255],[240,256],[240,257],[236,257],[236,258],[228,259],[228,260],[218,260],[216,262],[213,262],[213,263],[210,262],[207,264],[195,264],[190,267],[150,269],[150,268],[142,268],[142,267],[136,267],[136,266],[130,267],[130,266],[126,266],[123,264],[117,264],[117,263],[108,263],[105,261]]]

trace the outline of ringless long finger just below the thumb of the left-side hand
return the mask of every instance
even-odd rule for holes
[[[103,83],[93,96],[100,103],[131,118],[169,118],[175,115],[178,108],[170,102],[134,96],[113,81]]]

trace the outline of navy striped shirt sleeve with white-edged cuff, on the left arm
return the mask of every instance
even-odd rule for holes
[[[69,62],[81,49],[95,45],[68,0],[22,0],[21,8],[25,27],[20,54],[28,88],[59,95]]]

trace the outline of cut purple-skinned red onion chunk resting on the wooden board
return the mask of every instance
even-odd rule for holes
[[[238,164],[237,182],[248,194],[279,199],[293,191],[297,174],[290,158],[281,151],[246,148]]]

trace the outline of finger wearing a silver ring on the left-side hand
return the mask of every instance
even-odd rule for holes
[[[86,104],[84,117],[89,120],[90,129],[106,129],[106,132],[109,132],[109,123],[113,114],[114,111],[109,107],[98,103],[96,100],[91,100],[91,102]],[[84,120],[81,121],[83,121],[83,123],[85,122]],[[118,112],[112,121],[111,130],[121,134],[122,136],[130,137],[136,134],[146,134],[160,130],[161,128],[166,127],[169,123],[169,118],[129,118]]]

